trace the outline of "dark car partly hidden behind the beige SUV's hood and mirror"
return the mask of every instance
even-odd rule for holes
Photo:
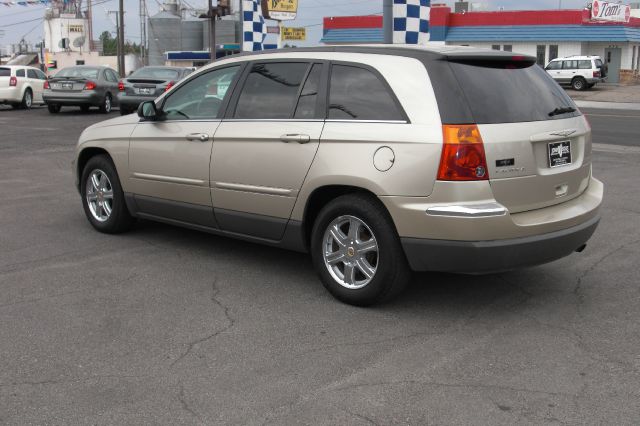
[[[189,73],[190,68],[143,67],[118,83],[120,114],[138,109],[144,101],[153,100],[169,90]]]

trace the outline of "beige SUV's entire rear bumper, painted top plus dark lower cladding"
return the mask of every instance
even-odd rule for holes
[[[438,196],[436,188],[432,195]],[[602,183],[591,179],[572,200],[516,214],[489,199],[435,205],[415,198],[382,199],[411,269],[475,274],[539,265],[582,251],[598,226],[602,195]]]

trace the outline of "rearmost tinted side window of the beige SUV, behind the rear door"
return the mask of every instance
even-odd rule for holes
[[[395,97],[373,72],[333,65],[329,119],[404,121]]]

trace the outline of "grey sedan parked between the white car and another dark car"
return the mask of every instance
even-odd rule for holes
[[[88,111],[95,106],[103,113],[111,112],[117,103],[118,75],[103,66],[77,65],[58,71],[44,85],[42,98],[52,114],[63,106],[79,106]]]

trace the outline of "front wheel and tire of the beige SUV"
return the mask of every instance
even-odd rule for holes
[[[108,156],[89,159],[82,171],[80,193],[87,219],[96,230],[118,234],[131,228],[133,218],[127,209],[116,168]]]

